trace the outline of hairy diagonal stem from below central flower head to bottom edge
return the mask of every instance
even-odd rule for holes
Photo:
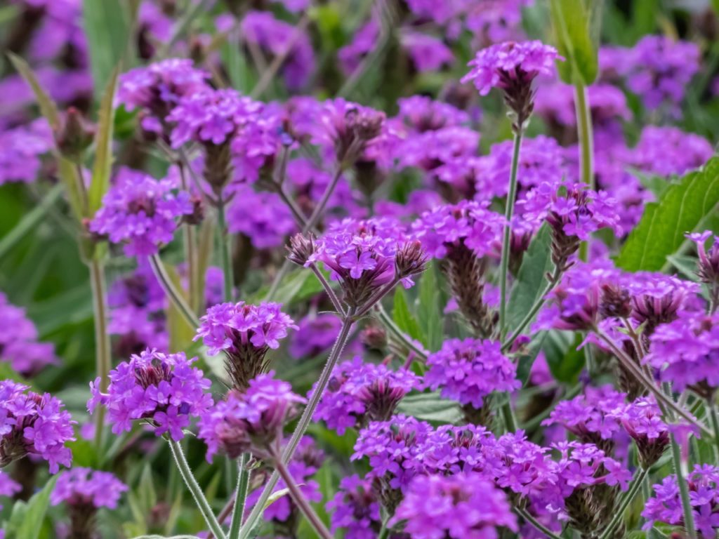
[[[285,451],[283,451],[282,453],[281,461],[283,464],[287,464],[290,459],[292,459],[292,456],[295,453],[295,449],[297,448],[298,443],[300,443],[300,440],[302,439],[302,436],[304,436],[308,425],[311,423],[312,416],[314,415],[314,411],[319,404],[319,400],[322,397],[325,388],[327,387],[329,378],[332,374],[332,370],[337,364],[339,356],[342,354],[344,345],[347,344],[347,338],[349,338],[349,333],[350,331],[352,331],[353,316],[354,313],[352,312],[352,310],[350,310],[350,312],[347,313],[347,316],[344,317],[344,321],[342,322],[342,328],[339,330],[339,335],[334,341],[334,346],[332,346],[332,350],[329,353],[329,357],[327,358],[327,362],[324,365],[324,369],[322,369],[322,374],[320,374],[317,385],[312,392],[312,397],[310,397],[310,400],[307,403],[307,407],[305,408],[302,417],[300,418],[297,427],[295,428],[295,432],[292,433],[292,438],[290,438],[290,441],[285,447]],[[240,539],[246,539],[249,536],[249,533],[251,533],[252,530],[255,528],[255,522],[257,522],[257,519],[260,518],[262,512],[265,510],[265,504],[267,503],[267,499],[270,497],[270,494],[272,494],[273,489],[275,488],[275,484],[277,484],[279,478],[279,472],[275,469],[273,474],[270,476],[270,479],[267,481],[267,484],[265,484],[265,489],[262,490],[262,493],[260,494],[260,499],[257,499],[255,507],[252,507],[252,512],[249,513],[247,521],[244,523],[244,526],[242,526],[242,530],[240,530],[239,533]]]

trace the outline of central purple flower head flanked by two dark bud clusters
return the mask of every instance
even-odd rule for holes
[[[383,285],[402,282],[411,287],[411,277],[426,264],[418,242],[408,240],[402,224],[392,218],[348,218],[316,240],[293,239],[290,260],[305,267],[322,262],[331,279],[342,285],[351,307],[365,305]]]

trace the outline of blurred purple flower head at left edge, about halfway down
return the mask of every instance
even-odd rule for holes
[[[52,344],[37,341],[37,328],[22,308],[12,305],[0,292],[0,360],[25,377],[57,363]]]

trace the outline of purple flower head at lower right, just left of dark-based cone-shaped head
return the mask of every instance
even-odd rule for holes
[[[626,395],[610,385],[585,387],[583,395],[557,403],[542,425],[562,425],[584,443],[610,451],[622,425],[616,415],[625,407]]]

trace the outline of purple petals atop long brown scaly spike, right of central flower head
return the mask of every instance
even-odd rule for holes
[[[444,258],[460,244],[477,257],[497,254],[504,218],[487,208],[487,203],[461,201],[423,213],[413,224],[413,234],[429,256]]]

